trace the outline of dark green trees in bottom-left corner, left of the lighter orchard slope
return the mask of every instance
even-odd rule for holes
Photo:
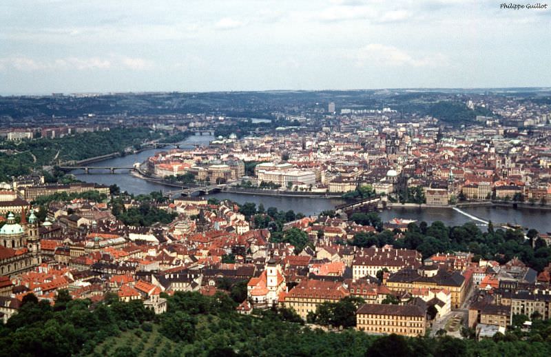
[[[120,327],[138,326],[152,318],[152,312],[136,300],[100,304],[91,311],[89,300],[70,300],[65,293],[60,293],[53,308],[45,300],[37,303],[30,294],[2,329],[0,356],[89,354],[97,343],[118,334]]]

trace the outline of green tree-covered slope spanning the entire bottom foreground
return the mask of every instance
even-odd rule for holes
[[[163,294],[164,295],[164,294]],[[373,336],[353,329],[351,298],[322,309],[320,322],[346,326],[324,332],[293,310],[273,307],[238,314],[231,294],[176,292],[155,316],[141,300],[123,303],[71,300],[61,290],[55,303],[25,296],[19,313],[0,326],[0,356],[549,356],[551,320],[533,320],[525,332],[477,341],[450,336]],[[319,310],[318,310],[319,311]],[[318,313],[316,313],[318,314]],[[337,320],[335,320],[338,319]],[[523,319],[516,319],[517,323]]]

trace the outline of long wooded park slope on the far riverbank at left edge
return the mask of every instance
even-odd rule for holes
[[[0,181],[30,174],[58,162],[80,161],[96,156],[124,153],[127,147],[158,139],[162,132],[148,128],[111,128],[101,132],[83,132],[61,138],[0,141]]]

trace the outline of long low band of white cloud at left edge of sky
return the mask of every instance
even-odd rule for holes
[[[37,70],[147,70],[153,67],[153,63],[147,59],[114,54],[105,58],[64,57],[41,61],[25,56],[0,58],[0,70],[12,68],[25,72]]]

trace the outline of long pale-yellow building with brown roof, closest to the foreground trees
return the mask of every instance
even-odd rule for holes
[[[373,334],[423,336],[426,312],[417,305],[364,304],[357,309],[356,328]]]

